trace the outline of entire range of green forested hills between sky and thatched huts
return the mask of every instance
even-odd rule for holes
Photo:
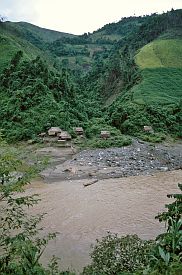
[[[52,125],[83,126],[89,138],[103,128],[149,141],[181,137],[181,30],[182,10],[81,36],[1,22],[0,128],[9,140]]]

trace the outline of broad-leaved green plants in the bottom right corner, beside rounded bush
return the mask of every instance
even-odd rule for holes
[[[178,186],[182,191],[182,184]],[[167,232],[156,238],[145,274],[182,274],[182,193],[168,197],[175,201],[156,217],[166,222]]]

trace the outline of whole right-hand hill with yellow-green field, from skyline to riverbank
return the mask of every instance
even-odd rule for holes
[[[157,133],[182,135],[181,29],[182,10],[171,11],[147,17],[135,33],[119,41],[103,95],[110,103],[111,124],[123,133],[151,141],[161,140]],[[110,79],[114,85],[109,90]],[[156,134],[145,134],[144,125]]]

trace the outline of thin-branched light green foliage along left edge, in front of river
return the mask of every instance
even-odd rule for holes
[[[23,196],[17,193],[23,192],[24,185],[29,183],[35,171],[21,169],[23,162],[2,140],[0,150],[0,274],[70,274],[59,271],[54,256],[47,268],[41,264],[40,257],[48,242],[56,237],[56,233],[40,237],[43,228],[39,223],[44,214],[27,214],[28,208],[37,204],[39,198],[36,195]],[[23,173],[20,173],[22,170]]]

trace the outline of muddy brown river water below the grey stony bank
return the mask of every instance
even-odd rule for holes
[[[27,194],[37,193],[42,199],[33,213],[46,212],[44,234],[59,232],[42,257],[47,263],[51,255],[61,258],[60,267],[79,272],[90,262],[91,244],[108,231],[119,235],[138,234],[153,239],[164,225],[155,215],[169,203],[168,193],[178,191],[182,170],[156,172],[124,178],[61,180],[51,184],[33,182]]]

